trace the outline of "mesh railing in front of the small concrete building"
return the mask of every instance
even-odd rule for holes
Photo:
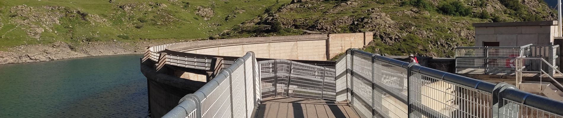
[[[468,74],[515,74],[514,58],[544,58],[556,65],[559,45],[524,45],[520,47],[457,47],[455,72]],[[539,70],[541,62],[527,62],[529,69]],[[547,68],[546,68],[547,69]]]

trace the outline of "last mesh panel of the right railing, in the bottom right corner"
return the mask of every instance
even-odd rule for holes
[[[546,117],[546,118],[563,118],[561,115],[553,114],[539,108],[524,105],[519,102],[511,101],[506,98],[502,99],[506,103],[503,107],[499,108],[499,118],[517,118],[517,117]]]

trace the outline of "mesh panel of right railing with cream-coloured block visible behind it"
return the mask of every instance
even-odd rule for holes
[[[413,106],[420,111],[431,111],[415,117],[491,117],[491,94],[459,86],[425,74],[411,72],[410,92]],[[432,114],[429,114],[432,113]]]

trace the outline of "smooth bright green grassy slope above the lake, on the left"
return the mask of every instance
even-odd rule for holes
[[[65,41],[200,39],[289,0],[0,0],[0,50]],[[277,4],[276,4],[277,3]]]

